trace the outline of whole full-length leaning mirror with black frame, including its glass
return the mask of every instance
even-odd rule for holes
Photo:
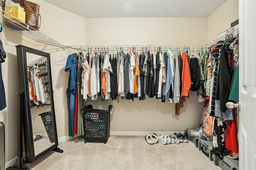
[[[50,54],[16,46],[20,90],[24,92],[26,160],[34,162],[49,150],[58,150]],[[62,151],[63,152],[63,151]]]

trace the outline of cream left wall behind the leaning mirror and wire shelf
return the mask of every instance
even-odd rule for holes
[[[85,44],[86,19],[42,0],[30,0],[40,5],[42,24],[40,32],[65,45]],[[2,4],[2,3],[1,3]],[[80,26],[78,26],[80,24]],[[74,32],[76,34],[74,34]],[[6,61],[2,63],[2,74],[6,93],[7,107],[0,111],[0,121],[5,125],[6,136],[6,162],[17,156],[17,96],[19,92],[17,57],[15,45],[26,45],[41,50],[44,43],[38,43],[20,33],[3,26],[0,33],[6,51]],[[69,74],[64,71],[66,58],[61,57],[67,53],[54,45],[44,49],[51,53],[52,80],[54,89],[54,104],[57,120],[58,137],[68,134],[68,113],[66,109],[66,88],[68,87]],[[6,167],[7,168],[7,167]]]

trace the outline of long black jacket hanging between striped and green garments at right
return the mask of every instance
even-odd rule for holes
[[[230,54],[229,54],[230,53]],[[229,55],[233,50],[229,49],[229,44],[223,45],[220,55],[218,78],[216,83],[216,99],[220,101],[220,110],[226,112],[226,103],[229,101],[230,85],[234,69],[229,65]]]

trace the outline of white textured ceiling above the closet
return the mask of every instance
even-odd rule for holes
[[[84,18],[208,17],[226,0],[44,0]]]

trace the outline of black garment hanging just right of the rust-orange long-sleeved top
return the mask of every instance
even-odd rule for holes
[[[190,77],[191,77],[191,91],[200,89],[200,68],[197,58],[190,59]]]

